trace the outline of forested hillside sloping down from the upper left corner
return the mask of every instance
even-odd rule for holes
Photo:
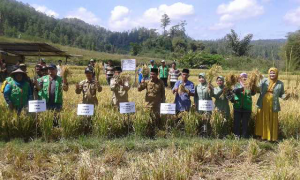
[[[78,19],[55,19],[15,0],[0,0],[0,35],[33,36],[53,43],[110,53],[128,52],[130,42],[156,36],[145,28],[112,32]]]

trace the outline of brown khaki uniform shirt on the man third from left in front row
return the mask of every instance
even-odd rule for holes
[[[88,80],[83,80],[79,83],[79,88],[75,90],[76,94],[81,94],[83,93],[83,99],[82,103],[83,104],[94,104],[98,105],[98,99],[97,99],[97,91],[101,92],[102,87],[96,84],[95,80],[88,81]]]

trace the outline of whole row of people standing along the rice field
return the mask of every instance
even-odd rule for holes
[[[1,77],[3,79],[1,91],[7,107],[10,110],[20,113],[28,108],[29,100],[45,100],[47,110],[59,112],[63,105],[63,91],[68,91],[67,78],[61,75],[61,61],[58,65],[46,65],[41,61],[35,66],[35,76],[30,78],[27,75],[25,64],[15,65],[8,77],[4,60],[0,60]],[[86,79],[76,84],[75,91],[82,94],[83,104],[97,105],[97,92],[102,87],[95,78],[95,61],[91,60],[84,73]],[[145,68],[146,67],[146,68]],[[122,68],[115,67],[109,61],[104,68],[107,83],[113,93],[112,104],[119,108],[121,102],[128,102],[128,91],[130,90],[129,80],[122,78]],[[148,72],[145,74],[145,72]],[[153,60],[148,66],[139,69],[138,91],[145,90],[145,108],[151,114],[155,125],[160,126],[160,104],[165,103],[165,90],[170,85],[175,96],[176,114],[180,117],[183,112],[190,111],[193,106],[198,110],[200,100],[213,100],[215,109],[221,112],[225,118],[231,118],[230,103],[233,104],[233,133],[237,137],[249,138],[249,120],[252,113],[252,96],[259,94],[256,102],[258,113],[255,122],[255,136],[268,141],[278,140],[278,112],[280,111],[279,98],[286,99],[284,84],[278,80],[278,70],[270,68],[268,77],[260,80],[257,88],[249,89],[246,86],[248,75],[241,73],[237,82],[232,87],[225,86],[223,76],[216,77],[216,87],[206,79],[205,73],[198,75],[199,83],[194,85],[189,81],[189,69],[180,71],[176,63],[169,68],[164,60],[161,66],[157,66]],[[181,78],[180,78],[181,77]],[[194,98],[192,104],[191,97]],[[209,119],[211,111],[200,111]],[[58,125],[58,120],[55,120]],[[204,125],[206,126],[206,125]],[[207,127],[206,127],[207,128]]]

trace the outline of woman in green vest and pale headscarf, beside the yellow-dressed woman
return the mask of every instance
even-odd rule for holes
[[[236,136],[248,138],[248,125],[252,112],[252,96],[254,91],[245,88],[248,75],[240,74],[240,82],[235,85],[234,93],[234,115],[233,115],[233,133]],[[242,123],[242,133],[240,131]]]

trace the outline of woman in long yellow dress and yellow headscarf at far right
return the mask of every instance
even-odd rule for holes
[[[278,140],[279,98],[286,98],[284,84],[278,80],[278,70],[269,69],[269,78],[260,84],[260,96],[257,101],[258,113],[255,123],[255,135],[264,140]]]

